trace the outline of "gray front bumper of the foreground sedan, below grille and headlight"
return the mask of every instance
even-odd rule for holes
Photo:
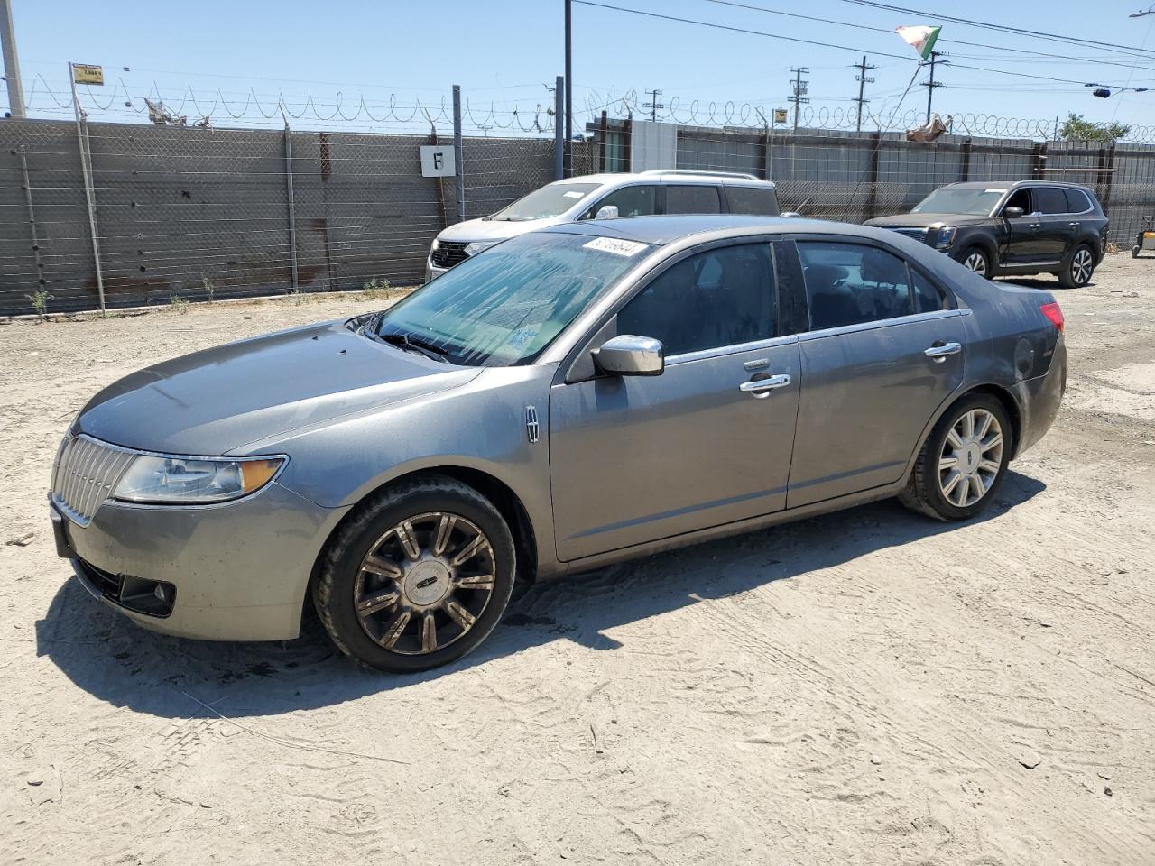
[[[110,500],[87,527],[50,508],[57,552],[89,592],[150,630],[214,641],[296,637],[313,563],[349,510],[276,481],[215,506]],[[142,590],[157,584],[172,596],[151,604]]]

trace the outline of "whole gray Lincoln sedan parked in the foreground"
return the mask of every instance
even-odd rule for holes
[[[122,379],[68,431],[51,515],[147,628],[289,639],[311,596],[344,652],[417,671],[515,580],[885,497],[967,520],[1065,379],[1050,293],[894,232],[591,221]]]

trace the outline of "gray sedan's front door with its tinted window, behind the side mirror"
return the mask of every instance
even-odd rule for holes
[[[662,341],[661,375],[552,388],[559,559],[785,506],[800,368],[775,283],[768,244],[687,255],[617,313],[618,334]]]

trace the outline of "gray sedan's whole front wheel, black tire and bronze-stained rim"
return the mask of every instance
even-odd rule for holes
[[[342,652],[411,673],[480,644],[509,603],[515,572],[513,536],[493,503],[431,475],[359,507],[326,550],[313,600]]]

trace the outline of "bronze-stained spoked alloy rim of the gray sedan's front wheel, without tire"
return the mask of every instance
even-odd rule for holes
[[[393,652],[425,655],[469,632],[493,595],[493,546],[448,512],[403,520],[362,560],[353,605],[362,628]]]

